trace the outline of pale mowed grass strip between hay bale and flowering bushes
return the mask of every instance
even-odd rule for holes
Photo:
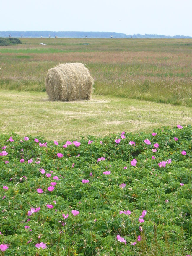
[[[114,96],[58,102],[48,101],[45,92],[1,90],[0,101],[0,133],[41,135],[48,140],[152,132],[165,125],[192,124],[191,107]]]

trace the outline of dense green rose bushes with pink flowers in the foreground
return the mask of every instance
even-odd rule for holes
[[[1,135],[0,243],[9,246],[1,255],[189,254],[191,128],[82,137],[79,146]],[[51,182],[57,184],[48,191]],[[47,248],[36,248],[39,243]]]

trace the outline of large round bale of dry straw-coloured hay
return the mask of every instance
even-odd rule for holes
[[[93,78],[82,63],[65,63],[48,70],[45,87],[51,101],[88,100]]]

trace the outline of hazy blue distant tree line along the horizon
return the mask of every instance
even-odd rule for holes
[[[192,38],[184,35],[134,34],[126,35],[116,32],[83,32],[83,31],[0,31],[0,37],[61,37],[61,38]]]

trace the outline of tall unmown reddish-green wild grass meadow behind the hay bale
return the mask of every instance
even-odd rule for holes
[[[95,79],[97,95],[192,106],[191,39],[21,41],[22,45],[0,48],[1,89],[45,91],[49,68],[59,63],[81,62]]]

